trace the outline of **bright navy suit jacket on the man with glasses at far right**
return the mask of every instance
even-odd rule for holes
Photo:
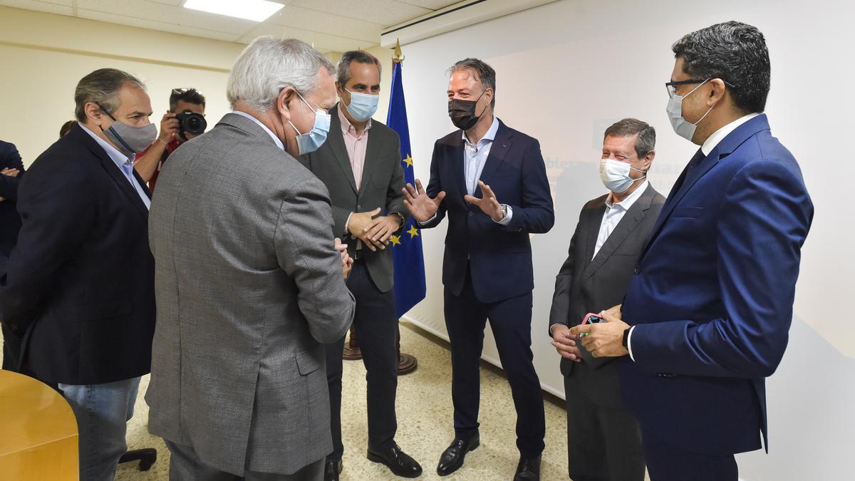
[[[765,115],[669,194],[622,306],[635,328],[622,391],[645,436],[703,454],[760,448],[765,377],[793,318],[813,205]]]

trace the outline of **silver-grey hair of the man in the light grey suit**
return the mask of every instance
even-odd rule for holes
[[[302,95],[315,92],[318,70],[333,64],[321,52],[298,39],[259,37],[241,52],[228,75],[226,97],[234,108],[244,102],[261,112],[274,106],[282,89],[292,86]]]

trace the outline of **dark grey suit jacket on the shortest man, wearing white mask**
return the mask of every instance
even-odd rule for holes
[[[665,198],[649,185],[600,247],[597,257],[593,257],[607,195],[582,207],[570,240],[569,255],[556,276],[550,325],[562,323],[572,327],[580,324],[588,312],[600,312],[622,302],[641,249],[665,202]],[[589,399],[607,407],[622,408],[621,363],[614,359],[604,363],[597,359],[595,363],[597,367],[591,362],[576,364],[562,358],[561,372],[564,376],[580,377],[587,386]]]

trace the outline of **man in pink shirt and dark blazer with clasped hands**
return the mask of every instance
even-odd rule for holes
[[[371,118],[380,98],[380,61],[362,50],[339,60],[336,89],[341,99],[329,110],[327,142],[300,157],[327,186],[333,204],[334,234],[347,238],[354,259],[347,287],[357,300],[353,324],[368,371],[369,460],[385,464],[398,476],[414,478],[422,466],[395,443],[398,430],[398,317],[392,291],[389,237],[409,215],[404,208],[404,169],[398,134]],[[326,479],[338,479],[341,457],[341,375],[345,337],[327,344],[333,453]]]

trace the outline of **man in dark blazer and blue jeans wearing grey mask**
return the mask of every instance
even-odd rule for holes
[[[21,369],[74,410],[80,478],[112,479],[150,368],[150,198],[132,159],[156,129],[142,82],[121,70],[87,74],[74,100],[80,124],[21,182],[23,225],[0,272],[0,310],[23,342]]]

